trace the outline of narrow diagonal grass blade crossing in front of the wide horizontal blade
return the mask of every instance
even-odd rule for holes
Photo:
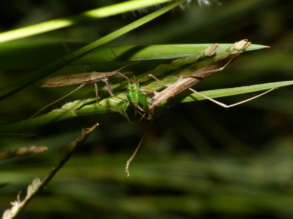
[[[89,51],[93,50],[94,48],[103,45],[105,43],[110,42],[113,39],[116,39],[117,37],[131,31],[132,29],[135,29],[150,20],[153,20],[154,18],[158,17],[159,15],[171,10],[172,8],[178,6],[179,4],[183,3],[185,0],[178,0],[173,2],[172,4],[165,6],[163,8],[160,8],[159,10],[140,18],[129,25],[126,25],[96,41],[94,41],[91,44],[88,44],[87,46],[84,46],[83,48],[79,49],[78,51],[74,52],[74,55],[79,58],[85,53],[88,53]],[[46,75],[56,71],[57,69],[60,69],[61,67],[65,66],[66,64],[70,63],[73,60],[73,57],[68,54],[64,56],[61,59],[58,59],[54,62],[52,62],[49,65],[46,65],[45,67],[29,74],[25,78],[19,79],[11,84],[8,84],[7,86],[0,88],[0,100],[3,100],[4,98],[8,97],[9,95],[25,88],[29,84],[34,83],[35,81],[38,81],[39,79],[45,77]]]

